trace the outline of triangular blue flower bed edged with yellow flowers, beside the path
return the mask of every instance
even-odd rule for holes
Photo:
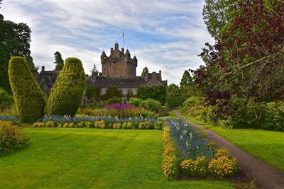
[[[212,176],[224,178],[238,171],[236,159],[229,151],[217,148],[202,131],[183,120],[169,120],[163,135],[163,171],[167,178]]]

